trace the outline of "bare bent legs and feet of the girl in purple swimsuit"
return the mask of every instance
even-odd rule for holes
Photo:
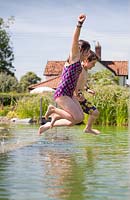
[[[53,126],[71,126],[83,121],[83,111],[80,105],[75,102],[76,100],[68,96],[62,96],[58,99],[57,103],[63,109],[56,108],[52,105],[48,107],[45,116],[48,118],[51,115],[52,121],[40,126],[38,131],[39,135]]]

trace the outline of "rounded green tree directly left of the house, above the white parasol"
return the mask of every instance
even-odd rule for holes
[[[41,81],[41,78],[38,77],[34,72],[27,72],[20,79],[20,88],[22,92],[28,91],[29,85],[36,84]]]

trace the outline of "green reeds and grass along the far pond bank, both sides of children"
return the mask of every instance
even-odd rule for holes
[[[99,125],[128,126],[129,89],[117,85],[96,85],[93,89],[96,92],[95,96],[88,93],[85,96],[100,112],[99,118],[95,123]],[[38,122],[40,117],[40,99],[40,95],[31,94],[24,95],[16,101],[12,98],[10,105],[1,106],[0,116],[32,118]],[[53,95],[46,93],[42,96],[43,116],[49,103],[54,104]],[[85,121],[87,118],[88,116],[86,115]]]

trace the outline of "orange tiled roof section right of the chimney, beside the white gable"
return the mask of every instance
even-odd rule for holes
[[[117,76],[128,75],[128,61],[100,61],[100,63],[114,72]]]

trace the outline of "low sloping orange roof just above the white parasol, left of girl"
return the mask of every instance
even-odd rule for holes
[[[34,85],[30,85],[29,86],[29,89],[32,90],[34,88],[37,88],[37,87],[51,87],[53,89],[56,89],[57,88],[57,85],[58,83],[60,82],[60,78],[61,76],[57,76],[55,78],[51,78],[47,81],[43,81],[41,83],[37,83],[37,84],[34,84]]]

